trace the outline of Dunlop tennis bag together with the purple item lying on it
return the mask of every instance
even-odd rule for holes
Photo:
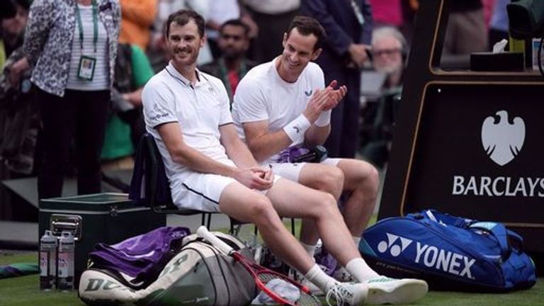
[[[215,236],[246,256],[236,237]],[[108,246],[99,244],[81,274],[79,298],[89,306],[249,305],[255,282],[232,256],[186,227],[161,227]]]

